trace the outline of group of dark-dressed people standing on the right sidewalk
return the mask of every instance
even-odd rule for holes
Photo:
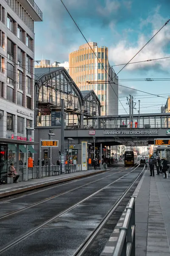
[[[149,160],[149,167],[150,167],[150,176],[155,176],[155,172],[154,172],[154,166],[156,165],[156,171],[157,174],[159,175],[160,173],[164,174],[164,179],[167,178],[167,170],[168,170],[168,162],[167,160],[164,158],[162,158],[160,160],[160,157],[156,157],[156,159],[151,156],[150,160]]]

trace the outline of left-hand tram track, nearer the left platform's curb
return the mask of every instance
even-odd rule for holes
[[[122,167],[124,167],[124,166],[122,166]],[[117,168],[117,169],[121,169],[122,167],[119,167],[119,168]],[[72,192],[72,191],[74,191],[74,190],[76,190],[76,189],[79,189],[79,188],[81,188],[81,187],[83,187],[83,186],[87,186],[87,185],[89,185],[89,184],[91,184],[91,183],[95,183],[95,182],[97,182],[97,181],[99,181],[99,180],[103,180],[103,179],[105,179],[105,178],[107,178],[107,177],[116,175],[117,173],[120,173],[120,172],[123,172],[123,171],[124,171],[124,170],[121,170],[121,171],[119,171],[119,172],[114,172],[114,173],[112,173],[112,174],[110,174],[110,175],[107,175],[107,176],[105,176],[105,177],[102,177],[102,178],[100,178],[100,179],[98,179],[98,180],[94,180],[94,181],[85,183],[85,184],[83,184],[83,185],[81,185],[81,186],[77,186],[77,187],[75,187],[75,188],[73,188],[73,189],[68,189],[68,190],[66,190],[65,192],[59,193],[59,194],[57,194],[57,195],[53,195],[53,196],[51,196],[51,197],[49,197],[49,198],[45,198],[44,200],[41,200],[41,201],[36,202],[36,203],[34,203],[34,204],[31,204],[31,205],[29,205],[29,206],[23,207],[23,208],[21,208],[21,209],[17,209],[17,210],[15,210],[15,211],[9,212],[9,213],[4,214],[4,215],[0,215],[0,220],[3,219],[3,218],[8,217],[8,216],[10,216],[10,215],[12,215],[12,214],[14,214],[14,213],[21,212],[21,211],[23,211],[23,210],[25,210],[25,209],[29,209],[29,208],[31,208],[31,207],[33,207],[33,206],[35,206],[35,205],[38,205],[38,204],[42,204],[42,203],[44,203],[44,202],[46,202],[46,201],[49,201],[49,200],[51,200],[51,199],[53,199],[53,198],[57,198],[57,197],[59,197],[59,196],[61,196],[61,195],[65,195],[65,194],[67,194],[67,193],[69,193],[69,192]],[[113,171],[109,171],[109,172],[113,172]],[[86,178],[84,178],[84,179],[86,179]],[[75,182],[75,181],[72,181],[71,183],[73,183],[73,182]],[[68,184],[70,184],[70,183],[68,183]],[[62,184],[62,185],[65,185],[65,184]],[[59,185],[59,186],[62,186],[62,185]],[[53,188],[55,188],[55,187],[58,188],[59,186],[54,186]],[[49,188],[48,188],[48,189],[49,189]],[[48,189],[45,189],[45,190],[48,190]],[[45,191],[45,190],[43,190],[43,191]],[[31,193],[31,194],[29,194],[29,195],[34,195],[34,194],[36,194],[36,193],[38,193],[38,192]],[[40,193],[40,192],[39,192],[39,193]],[[0,204],[9,203],[9,202],[14,201],[14,200],[16,200],[16,198],[10,199],[10,200],[8,200],[8,201],[2,201],[2,202],[0,202]]]

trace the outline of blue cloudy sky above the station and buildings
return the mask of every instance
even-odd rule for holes
[[[68,61],[70,52],[85,44],[61,0],[34,0],[43,13],[35,23],[35,60]],[[87,41],[108,47],[111,65],[125,64],[170,19],[170,0],[62,0]],[[131,62],[170,57],[170,22]],[[124,67],[114,66],[116,74]],[[159,113],[170,95],[170,58],[127,65],[119,74],[119,114],[129,113],[126,97],[133,95],[134,113]],[[139,92],[142,90],[147,93]],[[156,95],[156,96],[155,96]],[[124,109],[124,108],[125,109]]]

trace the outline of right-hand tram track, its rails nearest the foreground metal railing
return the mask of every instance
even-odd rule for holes
[[[105,189],[108,189],[109,186],[112,186],[114,183],[118,183],[121,179],[123,179],[124,177],[130,175],[130,173],[134,172],[137,168],[139,167],[139,165],[133,169],[130,172],[127,172],[125,175],[119,177],[118,179],[114,180],[113,182],[109,183],[107,186],[102,187],[102,189],[97,190],[96,192],[94,192],[93,194],[89,195],[88,197],[84,198],[81,201],[78,201],[76,204],[72,205],[71,207],[68,207],[67,209],[65,209],[64,211],[60,212],[59,214],[53,216],[52,218],[49,218],[47,221],[43,222],[42,224],[38,225],[37,227],[35,227],[34,229],[28,231],[27,233],[24,233],[22,236],[19,236],[17,239],[13,239],[12,242],[6,244],[6,246],[1,247],[0,248],[0,253],[3,253],[5,251],[7,251],[9,248],[16,246],[17,244],[19,244],[21,241],[23,241],[24,239],[28,238],[29,236],[33,235],[34,233],[36,233],[38,230],[40,230],[41,228],[45,227],[46,225],[50,224],[51,222],[55,221],[57,218],[62,217],[63,215],[67,214],[68,212],[70,212],[71,210],[73,210],[74,208],[78,207],[79,205],[81,205],[82,203],[84,203],[85,201],[88,201],[89,199],[93,198],[95,195],[98,195],[100,192],[102,192]],[[142,170],[142,172],[144,171],[144,169]],[[121,171],[120,171],[121,172]],[[141,173],[139,173],[139,175],[141,175]],[[118,172],[117,172],[118,173]],[[139,177],[139,175],[137,176],[137,178]],[[111,175],[108,175],[111,176]],[[105,177],[106,178],[106,177]],[[136,178],[136,179],[137,179]],[[102,178],[103,179],[103,178]],[[100,180],[102,180],[100,179]],[[135,179],[135,181],[136,181]],[[134,182],[135,182],[134,181]],[[133,182],[133,183],[134,183]],[[94,182],[91,182],[94,183]],[[125,197],[127,191],[129,191],[129,189],[131,188],[131,186],[133,185],[133,183],[126,189],[125,193],[122,195],[122,197],[116,201],[116,204],[114,205],[114,207],[112,207],[112,209],[108,212],[108,214],[105,216],[104,220],[101,222],[101,224],[96,227],[95,231],[93,233],[96,234],[97,230],[99,229],[99,227],[102,227],[102,223],[104,224],[106,219],[109,218],[111,212],[113,212],[114,209],[116,209],[115,207],[120,203],[121,199],[123,200],[123,198]],[[90,241],[91,236],[88,237],[88,240],[85,242],[86,244],[89,243],[88,241]],[[83,245],[83,247],[85,246],[85,243]],[[82,251],[82,246],[81,248],[79,247],[79,251],[77,250],[77,253],[80,253],[80,249]],[[8,254],[4,254],[4,255],[8,255]],[[81,254],[74,254],[74,255],[81,255]]]

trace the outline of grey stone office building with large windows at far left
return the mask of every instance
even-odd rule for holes
[[[34,145],[27,128],[34,128],[35,21],[42,12],[33,0],[0,0],[0,176]]]

